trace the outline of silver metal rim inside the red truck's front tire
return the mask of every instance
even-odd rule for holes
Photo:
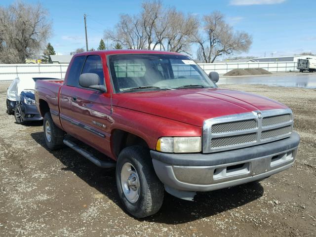
[[[135,203],[140,194],[139,178],[135,167],[129,162],[122,166],[120,183],[127,200]]]

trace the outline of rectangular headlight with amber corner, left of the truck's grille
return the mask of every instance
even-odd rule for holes
[[[156,150],[168,153],[193,153],[201,151],[201,137],[161,137]]]

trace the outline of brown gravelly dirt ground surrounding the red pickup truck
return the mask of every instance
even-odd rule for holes
[[[0,83],[0,236],[315,236],[316,90],[225,85],[288,105],[301,144],[294,166],[259,183],[199,193],[190,202],[165,195],[156,215],[122,210],[114,169],[69,148],[49,152],[42,124],[18,125],[5,113]]]

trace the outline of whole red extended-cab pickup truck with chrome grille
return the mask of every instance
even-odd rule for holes
[[[119,197],[137,218],[156,213],[164,191],[192,200],[198,191],[291,167],[300,141],[292,111],[259,95],[218,88],[214,75],[172,52],[76,54],[63,82],[36,81],[46,145],[65,144],[100,167],[116,166]]]

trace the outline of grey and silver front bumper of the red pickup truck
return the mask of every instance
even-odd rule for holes
[[[166,191],[181,196],[178,191],[217,190],[288,169],[294,162],[299,142],[300,136],[293,132],[291,137],[276,142],[226,152],[167,154],[151,151],[151,157]]]

